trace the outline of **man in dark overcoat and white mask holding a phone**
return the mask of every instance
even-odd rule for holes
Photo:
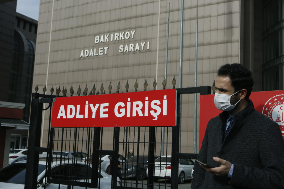
[[[284,188],[284,140],[277,123],[249,100],[251,72],[240,64],[218,70],[214,103],[191,188]]]

